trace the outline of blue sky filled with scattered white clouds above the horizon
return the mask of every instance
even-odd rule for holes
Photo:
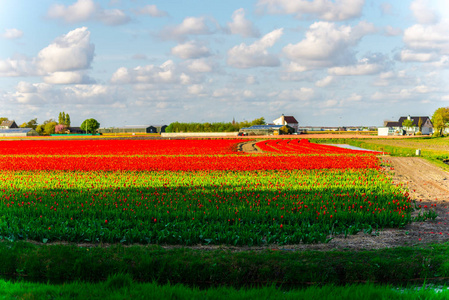
[[[0,0],[0,117],[376,125],[449,105],[447,0]]]

